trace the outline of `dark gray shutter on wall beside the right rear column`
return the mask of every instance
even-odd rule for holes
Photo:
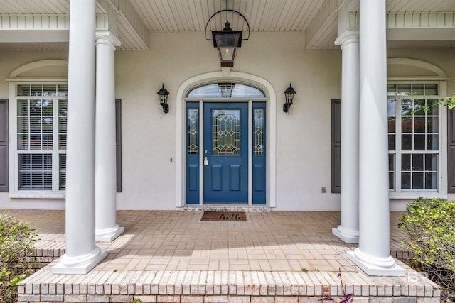
[[[332,185],[331,192],[341,192],[341,100],[332,99]]]

